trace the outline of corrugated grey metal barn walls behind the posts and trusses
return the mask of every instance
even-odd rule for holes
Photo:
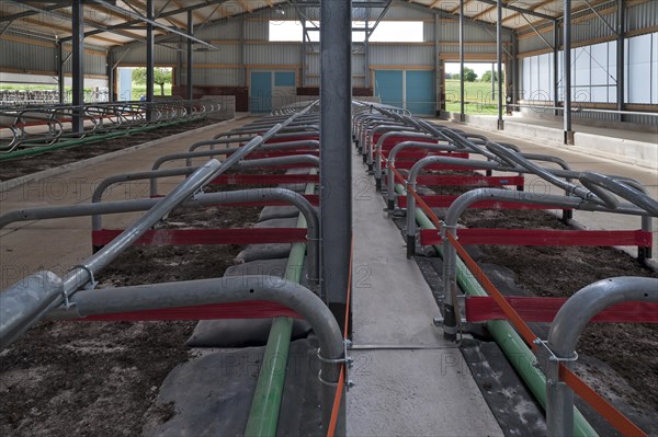
[[[230,2],[227,4],[231,4]],[[281,8],[266,8],[257,14],[250,15],[248,19],[225,20],[208,25],[197,26],[195,36],[209,41],[217,45],[219,50],[198,50],[200,46],[195,45],[194,64],[195,69],[194,82],[201,85],[245,85],[246,72],[250,69],[276,69],[290,68],[298,71],[302,68],[303,54],[300,43],[269,43],[269,23],[272,21],[296,20],[298,13],[291,4],[284,4],[283,14]],[[614,33],[610,26],[615,26],[616,21],[616,3],[606,2],[595,7],[606,21],[604,23],[597,18],[591,11],[581,11],[574,15],[574,44],[576,46],[587,44],[592,39],[598,42],[606,38],[613,38]],[[319,10],[317,8],[302,8],[300,11],[309,19],[317,20]],[[379,16],[382,9],[359,9],[355,11],[355,20],[365,20],[366,18],[373,23]],[[508,12],[506,12],[508,13]],[[651,0],[635,4],[627,9],[627,31],[635,32],[637,30],[649,28],[658,25],[658,1]],[[410,67],[410,69],[430,69],[433,70],[435,65],[434,54],[434,35],[439,38],[440,54],[450,54],[454,57],[458,53],[458,21],[456,19],[447,19],[440,16],[439,28],[434,28],[434,15],[432,12],[422,11],[417,8],[407,7],[401,3],[396,3],[389,8],[385,20],[387,21],[422,21],[423,22],[423,44],[386,44],[372,43],[370,45],[370,70],[366,72],[366,57],[362,53],[361,47],[352,56],[352,74],[355,87],[363,87],[366,83],[366,74],[370,76],[371,70],[385,69],[386,67]],[[609,26],[610,25],[610,26]],[[553,43],[553,25],[544,25],[538,27],[542,31],[542,36]],[[496,54],[496,26],[483,26],[473,23],[466,23],[465,39],[469,44],[465,47],[466,59],[469,55],[478,55],[481,59],[483,55]],[[54,45],[48,45],[42,41],[42,45],[25,44],[20,41],[11,41],[12,32],[5,32],[5,37],[0,38],[0,53],[2,53],[2,67],[20,70],[43,70],[54,71],[56,69],[56,48]],[[503,32],[503,38],[507,43],[511,42],[511,35]],[[245,42],[242,47],[239,43]],[[481,44],[474,44],[481,43]],[[123,56],[126,49],[131,50]],[[510,47],[508,45],[508,47]],[[186,59],[186,44],[182,42],[171,42],[164,45],[156,45],[156,62],[160,65],[171,65],[178,67],[177,77],[181,83],[186,82],[185,70],[180,68]],[[309,53],[305,59],[305,85],[313,87],[319,84],[319,54],[318,45],[309,46]],[[102,50],[102,49],[101,49]],[[314,53],[310,53],[315,50]],[[524,31],[519,38],[519,53],[530,54],[535,51],[549,51],[551,48],[546,43],[536,35],[532,30]],[[66,55],[65,55],[66,56]],[[114,53],[114,59],[122,58],[122,65],[144,65],[145,49],[144,44],[133,44],[129,46],[117,48]],[[105,74],[106,59],[104,56],[86,54],[86,70],[90,74]],[[523,62],[521,62],[523,64]],[[70,62],[67,64],[67,68]],[[69,71],[68,69],[66,71]],[[552,71],[552,69],[551,69]],[[524,77],[525,71],[521,68],[520,78]],[[552,72],[551,72],[552,73]],[[549,74],[548,74],[549,76]],[[299,79],[297,79],[300,82]],[[537,83],[537,87],[546,88],[543,83]],[[532,88],[532,87],[531,87]],[[552,87],[548,87],[548,95],[553,92]]]

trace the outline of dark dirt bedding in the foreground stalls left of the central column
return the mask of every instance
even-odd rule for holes
[[[259,207],[173,211],[167,228],[242,228]],[[220,277],[242,248],[134,246],[99,287]],[[44,322],[0,354],[0,435],[136,436],[196,322]],[[172,405],[158,405],[163,423]]]

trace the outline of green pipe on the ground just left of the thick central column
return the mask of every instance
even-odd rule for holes
[[[311,174],[315,173],[315,171],[311,171]],[[315,184],[306,184],[304,194],[314,193]],[[306,228],[306,218],[303,215],[297,218],[297,228]],[[292,245],[283,276],[285,279],[299,284],[305,254],[305,243],[294,243]],[[249,418],[247,419],[246,437],[276,436],[292,332],[293,319],[275,318],[272,321],[256,392],[251,401]]]

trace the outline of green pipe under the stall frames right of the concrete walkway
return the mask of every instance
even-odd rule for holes
[[[395,191],[398,194],[406,195],[402,185],[396,185]],[[416,208],[416,221],[421,229],[436,229],[421,208]],[[434,248],[440,255],[443,255],[443,248],[441,245],[434,245]],[[467,295],[489,296],[458,256],[457,281]],[[508,360],[521,376],[523,382],[525,382],[532,394],[540,402],[542,409],[546,410],[546,377],[536,367],[537,359],[532,350],[508,321],[491,320],[487,322],[487,329],[508,357]],[[598,436],[597,432],[576,407],[574,407],[574,435],[577,437]]]

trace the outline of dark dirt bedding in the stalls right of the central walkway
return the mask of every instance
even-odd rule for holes
[[[469,228],[572,229],[541,210],[469,210],[462,223]],[[543,297],[570,297],[580,288],[615,276],[658,277],[625,252],[599,246],[480,246],[478,262],[506,266],[515,273],[515,286]],[[617,382],[598,381],[637,409],[658,411],[658,325],[591,323],[583,331],[578,352],[611,366],[639,398]],[[582,371],[593,366],[581,368]],[[646,369],[647,371],[643,371]],[[595,379],[595,376],[594,376]]]

